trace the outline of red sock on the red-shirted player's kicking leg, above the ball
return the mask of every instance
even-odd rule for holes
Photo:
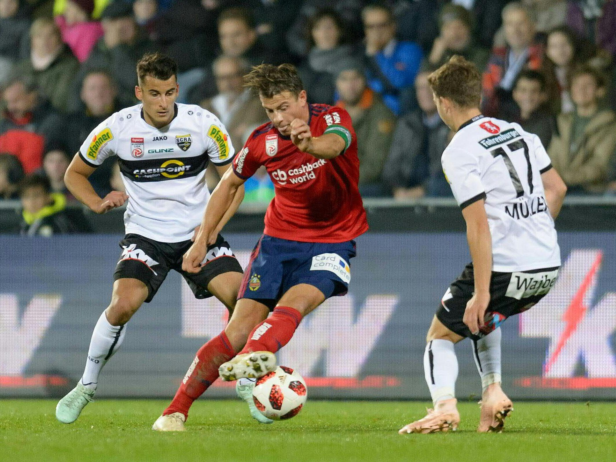
[[[288,306],[275,307],[272,315],[250,333],[240,354],[253,351],[277,352],[291,340],[301,320],[302,315],[298,310]]]

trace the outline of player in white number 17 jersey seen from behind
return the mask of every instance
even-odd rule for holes
[[[445,292],[428,330],[424,370],[434,409],[400,434],[457,428],[453,345],[464,338],[472,339],[482,378],[477,431],[500,432],[513,405],[500,384],[499,326],[556,282],[554,218],[567,188],[537,135],[480,113],[481,78],[472,63],[454,56],[428,81],[440,117],[455,132],[442,166],[466,221],[472,263]]]

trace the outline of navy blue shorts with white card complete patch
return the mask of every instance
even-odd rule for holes
[[[315,286],[326,299],[344,295],[355,253],[355,241],[299,242],[264,234],[254,246],[237,298],[258,300],[273,309],[298,284]]]

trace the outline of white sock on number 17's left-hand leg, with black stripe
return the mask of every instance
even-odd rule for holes
[[[428,342],[424,352],[424,372],[435,405],[439,400],[455,397],[458,358],[453,342],[443,339]]]

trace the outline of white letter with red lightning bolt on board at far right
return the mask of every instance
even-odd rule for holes
[[[522,337],[549,339],[541,377],[516,381],[518,386],[588,389],[616,387],[616,293],[593,301],[603,253],[576,249],[545,298],[521,314]],[[583,368],[583,376],[578,371]]]

